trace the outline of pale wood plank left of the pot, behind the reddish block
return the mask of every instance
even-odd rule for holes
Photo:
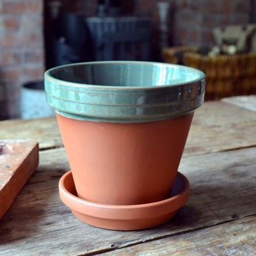
[[[62,146],[56,118],[7,120],[0,122],[1,139],[31,139],[40,149]]]

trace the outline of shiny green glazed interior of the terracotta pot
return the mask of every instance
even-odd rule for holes
[[[152,87],[193,83],[204,77],[194,68],[155,62],[88,62],[54,68],[57,80],[100,86]]]

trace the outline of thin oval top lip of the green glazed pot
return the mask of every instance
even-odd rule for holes
[[[54,78],[51,73],[59,70],[61,68],[66,68],[66,67],[74,67],[74,66],[83,66],[83,65],[101,65],[101,64],[147,64],[147,65],[157,65],[157,66],[163,66],[163,67],[180,67],[184,68],[184,70],[191,70],[193,73],[197,73],[199,75],[199,78],[196,78],[194,80],[186,81],[186,82],[180,82],[180,83],[175,83],[175,84],[168,84],[168,85],[151,85],[151,86],[110,86],[110,85],[91,85],[88,83],[75,83],[75,82],[70,82],[66,80],[60,80],[58,78]],[[145,91],[145,90],[157,90],[161,88],[178,88],[183,85],[189,85],[191,83],[197,83],[201,80],[204,80],[206,78],[206,75],[204,72],[198,70],[197,68],[192,68],[192,67],[187,67],[185,65],[178,65],[178,64],[168,64],[168,63],[163,63],[163,62],[147,62],[147,61],[136,61],[136,60],[109,60],[109,61],[95,61],[95,62],[79,62],[79,63],[74,63],[74,64],[65,64],[65,65],[60,65],[54,68],[50,68],[44,73],[44,78],[48,81],[52,81],[57,84],[65,84],[66,86],[74,86],[76,88],[94,88],[94,89],[99,89],[99,90],[104,90],[104,89],[111,89],[114,91]]]

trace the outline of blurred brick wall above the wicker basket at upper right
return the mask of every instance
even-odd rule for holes
[[[213,44],[213,28],[250,22],[250,4],[250,0],[176,0],[173,44]]]

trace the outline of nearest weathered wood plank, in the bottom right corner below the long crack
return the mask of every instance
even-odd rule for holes
[[[256,217],[171,236],[137,246],[114,250],[102,256],[199,256],[256,255]]]

